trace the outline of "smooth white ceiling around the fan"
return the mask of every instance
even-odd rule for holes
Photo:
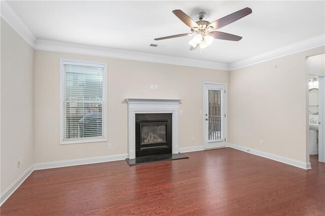
[[[102,46],[231,63],[324,34],[324,1],[10,1],[8,4],[37,39]],[[207,12],[212,22],[249,7],[253,13],[220,28],[243,37],[215,40],[189,51],[191,37],[154,38],[190,32],[172,10],[192,19]],[[157,44],[158,47],[149,47]]]

